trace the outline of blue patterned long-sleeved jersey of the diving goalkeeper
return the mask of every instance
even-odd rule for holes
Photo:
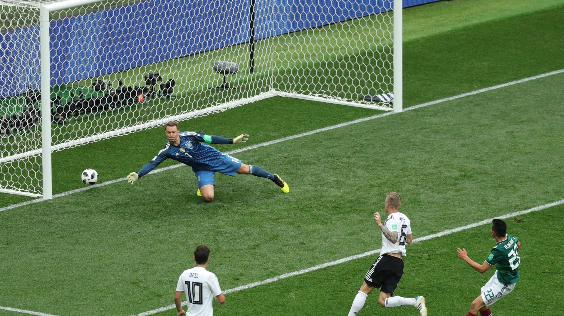
[[[170,144],[170,141],[167,141],[165,148],[161,149],[152,161],[148,162],[137,172],[139,177],[151,172],[158,164],[168,158],[187,164],[192,167],[192,170],[195,172],[200,170],[213,170],[222,152],[210,145],[202,144],[203,142],[228,144],[228,139],[221,136],[205,135],[202,132],[181,132],[180,144],[174,146]]]

